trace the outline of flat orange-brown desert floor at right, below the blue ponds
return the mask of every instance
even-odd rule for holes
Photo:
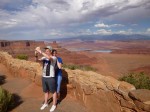
[[[138,69],[145,68],[145,66],[150,66],[150,55],[111,53],[83,54],[97,58],[97,63],[91,66],[96,68],[98,73],[115,78],[119,78],[133,71],[138,71]],[[145,71],[144,68],[143,71]],[[142,70],[140,72],[142,72]]]

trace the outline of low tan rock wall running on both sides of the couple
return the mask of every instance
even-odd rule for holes
[[[5,52],[0,52],[0,63],[5,65],[12,75],[28,78],[41,85],[40,64],[14,59]],[[92,71],[64,69],[63,79],[67,83],[67,91],[90,112],[150,111],[149,96],[145,97],[149,90],[136,90],[129,83]]]

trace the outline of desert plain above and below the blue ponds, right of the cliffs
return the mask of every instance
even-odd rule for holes
[[[112,53],[94,53],[78,51],[76,53],[87,56],[89,66],[97,69],[102,75],[119,78],[130,72],[145,72],[150,75],[150,41],[71,41],[60,45],[66,49],[112,50]],[[71,57],[70,57],[71,58]],[[82,61],[84,65],[85,61]]]

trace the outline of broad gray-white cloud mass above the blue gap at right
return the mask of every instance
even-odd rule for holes
[[[72,35],[65,31],[73,31],[89,21],[93,24],[99,20],[132,22],[150,18],[149,15],[149,0],[1,0],[0,38],[7,32],[10,35],[45,36],[44,33],[62,32],[64,36]]]

